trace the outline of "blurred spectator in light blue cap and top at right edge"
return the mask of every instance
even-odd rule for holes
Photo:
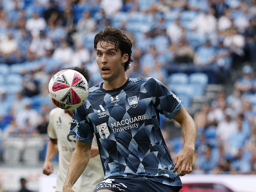
[[[254,93],[255,80],[252,78],[253,69],[251,66],[246,65],[242,68],[242,77],[235,83],[235,88],[242,91],[243,94]]]

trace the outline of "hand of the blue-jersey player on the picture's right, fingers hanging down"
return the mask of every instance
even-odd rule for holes
[[[192,162],[193,162],[194,150],[190,147],[184,147],[176,156],[175,156],[175,168],[173,173],[175,173],[178,168],[181,166],[178,176],[184,176],[192,172]]]

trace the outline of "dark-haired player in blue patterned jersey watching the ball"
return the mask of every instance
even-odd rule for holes
[[[77,146],[65,192],[72,191],[87,166],[94,133],[105,173],[94,192],[179,191],[179,176],[192,171],[196,125],[162,82],[126,77],[133,61],[131,48],[131,40],[120,29],[106,27],[94,37],[103,83],[90,88],[86,103],[74,110],[70,134],[76,136]],[[174,163],[159,128],[159,113],[182,126],[184,147]]]

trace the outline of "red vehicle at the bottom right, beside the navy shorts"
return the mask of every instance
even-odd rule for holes
[[[185,183],[180,192],[234,192],[217,183]]]

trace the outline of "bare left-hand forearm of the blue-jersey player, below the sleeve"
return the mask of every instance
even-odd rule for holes
[[[84,143],[77,140],[76,149],[69,164],[68,175],[63,185],[63,192],[73,191],[72,186],[76,183],[89,162],[91,146],[92,143]]]

